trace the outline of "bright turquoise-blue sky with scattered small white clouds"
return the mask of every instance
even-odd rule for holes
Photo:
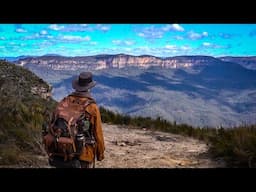
[[[256,24],[0,24],[0,57],[255,56]]]

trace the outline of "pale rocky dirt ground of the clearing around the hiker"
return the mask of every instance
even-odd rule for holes
[[[223,162],[210,159],[204,142],[193,138],[108,124],[103,124],[103,132],[105,159],[96,162],[96,168],[224,167]],[[46,156],[35,158],[30,165],[10,167],[50,168]]]

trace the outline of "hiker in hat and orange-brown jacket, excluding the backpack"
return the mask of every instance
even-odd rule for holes
[[[86,143],[86,135],[84,134],[82,134],[81,137],[76,138],[82,140],[81,152],[77,156],[77,160],[80,162],[82,168],[94,167],[95,159],[98,161],[104,159],[105,145],[101,115],[95,100],[90,94],[90,89],[95,85],[96,82],[92,80],[92,73],[82,72],[79,77],[74,79],[72,82],[72,87],[75,89],[75,92],[63,98],[57,106],[57,109],[64,108],[63,113],[68,114],[68,107],[72,104],[78,104],[84,107],[82,109],[84,109],[85,114],[89,115],[90,133],[88,134],[91,134],[91,137],[95,143]],[[67,110],[67,112],[65,112],[65,110]],[[78,161],[76,161],[75,165],[73,163],[71,167],[80,167]],[[66,167],[67,165],[57,156],[51,156],[49,158],[49,163],[55,167]]]

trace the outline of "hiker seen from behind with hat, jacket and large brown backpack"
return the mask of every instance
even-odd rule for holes
[[[50,165],[92,168],[104,159],[101,115],[90,94],[95,85],[92,73],[82,72],[72,82],[75,92],[58,103],[43,135]]]

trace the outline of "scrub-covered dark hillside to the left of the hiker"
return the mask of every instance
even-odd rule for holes
[[[24,154],[42,154],[42,124],[56,102],[31,91],[50,86],[32,72],[0,61],[0,164],[29,162]]]

